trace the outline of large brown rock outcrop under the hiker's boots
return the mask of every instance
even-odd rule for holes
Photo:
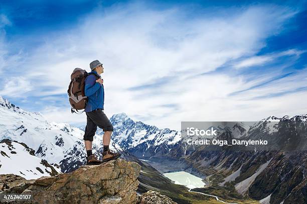
[[[139,164],[116,159],[31,180],[2,174],[0,193],[32,194],[34,200],[24,203],[136,203],[139,171]]]

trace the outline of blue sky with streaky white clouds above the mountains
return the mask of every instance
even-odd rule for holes
[[[0,95],[49,121],[75,67],[104,65],[108,117],[160,128],[307,111],[306,1],[0,0]]]

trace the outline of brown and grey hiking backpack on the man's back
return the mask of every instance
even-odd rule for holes
[[[67,93],[69,96],[69,103],[71,105],[71,113],[77,113],[79,112],[78,110],[86,107],[88,98],[85,96],[84,87],[85,79],[88,75],[95,75],[96,79],[99,78],[97,74],[89,74],[86,70],[81,68],[75,68],[70,75],[71,81],[69,83]],[[84,112],[84,110],[82,112]]]

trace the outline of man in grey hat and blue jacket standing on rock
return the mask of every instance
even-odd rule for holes
[[[104,104],[104,88],[103,80],[100,74],[103,73],[103,66],[98,60],[90,63],[91,72],[85,79],[85,96],[88,97],[88,102],[85,107],[87,117],[85,133],[83,136],[84,145],[87,153],[87,165],[100,164],[104,161],[116,159],[120,153],[113,153],[109,149],[113,125],[103,112]],[[98,78],[98,79],[97,79]],[[103,129],[103,153],[102,160],[98,160],[92,153],[93,137],[96,133],[97,126]]]

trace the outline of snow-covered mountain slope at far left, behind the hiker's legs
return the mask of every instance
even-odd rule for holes
[[[77,127],[48,122],[41,113],[25,111],[0,96],[0,140],[26,143],[39,158],[59,164],[62,172],[70,172],[85,163],[83,134]],[[102,137],[96,135],[93,153],[101,156],[102,148]],[[122,151],[113,141],[110,148]]]

